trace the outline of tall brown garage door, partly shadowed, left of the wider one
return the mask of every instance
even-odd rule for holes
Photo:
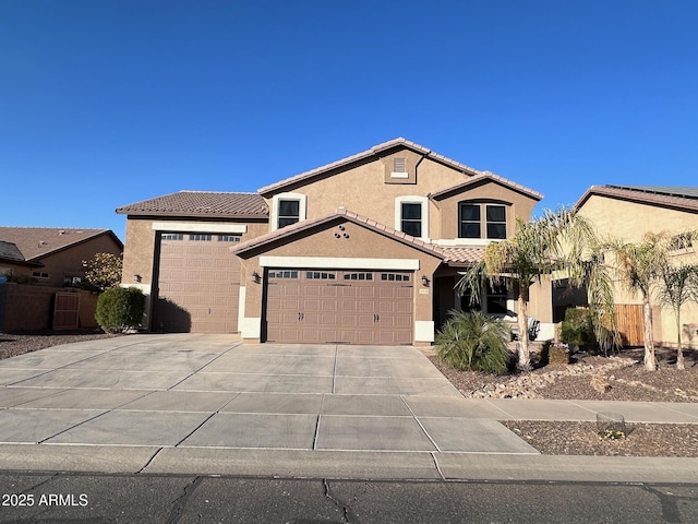
[[[240,262],[230,247],[239,241],[239,235],[161,234],[154,330],[238,331]]]

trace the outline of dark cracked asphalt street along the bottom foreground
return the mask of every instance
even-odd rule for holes
[[[695,523],[698,485],[0,475],[2,523]]]

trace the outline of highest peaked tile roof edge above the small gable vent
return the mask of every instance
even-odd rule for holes
[[[409,140],[405,140],[404,138],[397,138],[394,140],[389,140],[387,142],[383,142],[382,144],[378,145],[374,145],[373,147],[371,147],[370,150],[363,151],[361,153],[357,153],[356,155],[351,155],[348,156],[346,158],[342,158],[340,160],[337,162],[333,162],[330,164],[327,164],[325,166],[321,166],[321,167],[316,167],[315,169],[311,169],[310,171],[305,171],[305,172],[301,172],[300,175],[296,175],[294,177],[290,177],[287,178],[285,180],[281,180],[279,182],[275,182],[272,183],[269,186],[265,186],[264,188],[261,188],[258,190],[258,192],[261,194],[265,194],[265,193],[270,193],[270,192],[278,192],[280,190],[282,190],[284,188],[288,187],[288,186],[292,186],[292,184],[297,184],[299,182],[303,182],[305,180],[315,178],[315,177],[321,177],[323,175],[328,174],[329,171],[334,170],[334,169],[338,169],[341,167],[347,167],[350,166],[351,164],[361,162],[361,160],[365,160],[368,158],[372,158],[372,157],[378,157],[381,153],[386,152],[388,150],[392,148],[396,148],[396,147],[405,147],[411,151],[414,151],[417,153],[420,153],[422,155],[424,155],[428,158],[431,158],[435,162],[440,162],[441,164],[444,164],[448,167],[452,167],[458,171],[461,171],[465,175],[468,176],[476,176],[476,175],[481,175],[483,171],[479,171],[478,169],[474,169],[470,166],[466,166],[465,164],[461,164],[459,162],[456,160],[452,160],[450,158],[445,157],[444,155],[440,155],[438,153],[434,153],[433,151],[419,145],[414,142],[410,142]]]

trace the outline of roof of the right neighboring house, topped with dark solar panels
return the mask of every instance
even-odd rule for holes
[[[691,213],[698,212],[698,188],[667,186],[592,186],[575,204],[575,209],[580,209],[594,194]]]

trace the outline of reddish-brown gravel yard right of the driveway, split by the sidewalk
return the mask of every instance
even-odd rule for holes
[[[603,357],[578,353],[573,364],[534,367],[528,373],[497,377],[456,371],[430,359],[466,397],[547,398],[698,403],[698,352],[684,353],[686,369],[673,362],[675,350],[659,348],[659,369],[646,371],[642,348]],[[533,361],[538,354],[533,353]],[[543,454],[698,457],[698,424],[627,424],[618,439],[603,438],[595,422],[503,420]]]

